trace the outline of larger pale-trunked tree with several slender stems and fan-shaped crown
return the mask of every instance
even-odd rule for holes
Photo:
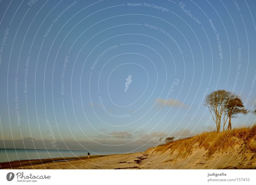
[[[223,90],[213,91],[212,93],[206,95],[204,100],[204,105],[208,107],[211,112],[213,121],[216,123],[217,132],[220,132],[221,117],[224,114],[223,130],[227,122],[225,120],[226,116],[226,106],[230,100],[234,99],[234,94],[232,92]],[[215,118],[214,118],[215,117]]]

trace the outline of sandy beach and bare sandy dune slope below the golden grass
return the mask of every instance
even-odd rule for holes
[[[178,152],[131,153],[95,155],[77,158],[25,160],[0,163],[2,169],[255,169],[256,160],[251,153],[242,154],[239,148],[217,152],[211,158],[205,149],[194,149],[185,158]]]

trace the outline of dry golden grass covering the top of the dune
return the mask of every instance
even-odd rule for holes
[[[204,148],[210,157],[215,152],[227,151],[229,147],[233,147],[236,144],[237,139],[242,140],[246,144],[246,148],[250,151],[256,152],[256,124],[252,127],[235,128],[231,131],[219,133],[216,131],[203,132],[194,137],[178,139],[171,143],[157,146],[154,148],[154,152],[163,153],[170,150],[173,153],[174,151],[178,151],[179,155],[185,157],[192,152],[193,148]]]

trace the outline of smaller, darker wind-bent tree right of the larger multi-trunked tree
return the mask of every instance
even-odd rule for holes
[[[239,96],[235,95],[236,98],[230,100],[226,106],[226,114],[228,115],[228,128],[227,130],[231,130],[231,118],[236,118],[237,114],[248,114],[248,110],[244,108],[242,100]]]

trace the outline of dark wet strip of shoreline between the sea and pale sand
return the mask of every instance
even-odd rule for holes
[[[139,152],[138,152],[139,153]],[[49,159],[26,159],[26,160],[14,160],[14,161],[7,161],[0,163],[0,169],[7,169],[7,168],[22,168],[22,167],[32,167],[35,165],[44,165],[44,164],[57,164],[63,162],[71,162],[71,161],[84,161],[90,159],[97,159],[97,158],[104,158],[109,156],[124,156],[129,154],[136,154],[136,153],[127,153],[127,154],[109,154],[109,155],[90,155],[88,156],[80,156],[80,157],[61,157],[61,158],[49,158]]]

